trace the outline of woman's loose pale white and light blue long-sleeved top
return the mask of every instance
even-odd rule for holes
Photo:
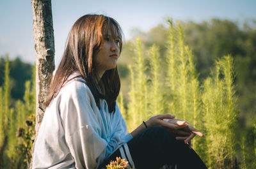
[[[33,168],[97,168],[131,140],[116,104],[100,110],[83,78],[68,82],[47,107],[36,139]]]

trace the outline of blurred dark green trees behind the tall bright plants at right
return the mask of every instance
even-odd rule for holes
[[[237,107],[241,110],[239,125],[243,125],[243,119],[245,120],[243,122],[246,124],[246,126],[239,127],[244,129],[251,127],[253,124],[251,117],[255,117],[256,114],[255,20],[247,20],[244,22],[244,26],[241,22],[216,18],[200,23],[188,21],[180,22],[180,24],[183,28],[184,37],[186,37],[184,38],[184,42],[188,44],[189,48],[193,49],[193,55],[195,55],[193,59],[196,63],[196,70],[200,72],[198,76],[200,84],[211,74],[210,68],[214,66],[214,61],[217,58],[228,54],[234,57],[237,72],[234,83],[237,87],[237,96],[239,96]],[[174,36],[179,36],[178,34],[174,34]],[[141,37],[141,42],[143,42],[145,50],[148,50],[153,43],[159,46],[160,59],[163,59],[164,55],[170,50],[170,45],[166,44],[166,42],[171,41],[172,38],[170,37],[170,27],[166,27],[166,24],[159,24],[147,33],[138,32],[137,35]],[[122,51],[122,57],[120,59],[122,64],[127,62],[132,63],[130,58],[134,55],[134,51],[132,50],[134,47],[131,43],[131,41],[128,41]],[[179,43],[177,37],[173,38],[173,44],[175,43]],[[177,47],[173,48],[173,54],[177,50]],[[168,61],[167,63],[170,64]],[[161,67],[166,70],[167,67],[169,68],[166,65],[161,64]],[[172,68],[172,66],[170,67]],[[175,68],[175,70],[177,69]],[[128,83],[129,80],[125,82]],[[122,82],[122,86],[128,85],[124,85],[124,82]],[[123,88],[122,91],[124,90],[127,91],[127,89]],[[124,97],[126,96],[124,95]],[[175,111],[175,108],[173,108],[172,112]]]

